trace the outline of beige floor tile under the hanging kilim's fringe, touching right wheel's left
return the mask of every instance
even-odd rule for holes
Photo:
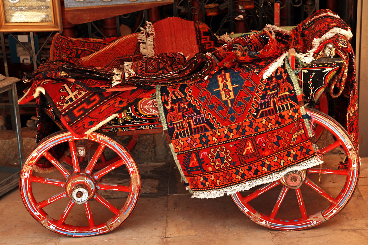
[[[229,196],[198,199],[191,195],[170,195],[168,206],[169,237],[267,231],[245,217]]]

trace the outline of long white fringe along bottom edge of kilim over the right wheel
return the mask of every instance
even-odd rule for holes
[[[313,158],[304,161],[298,165],[293,165],[290,167],[287,167],[286,169],[277,172],[277,173],[273,173],[269,176],[265,176],[259,179],[255,179],[255,180],[250,180],[247,181],[245,183],[239,184],[239,185],[234,185],[228,188],[224,188],[221,190],[215,190],[215,191],[195,191],[192,194],[192,198],[216,198],[216,197],[222,197],[225,193],[227,195],[231,195],[234,194],[236,192],[239,191],[246,191],[249,190],[252,187],[255,187],[257,185],[261,185],[261,184],[266,184],[266,183],[270,183],[272,181],[276,181],[279,180],[281,177],[283,177],[286,173],[289,173],[290,171],[293,170],[304,170],[307,169],[309,167],[314,167],[316,165],[320,165],[322,164],[323,161],[321,161],[321,159],[319,159],[317,156],[314,156]]]

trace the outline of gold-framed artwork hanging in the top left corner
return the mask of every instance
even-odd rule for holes
[[[0,0],[0,32],[60,30],[59,0]]]

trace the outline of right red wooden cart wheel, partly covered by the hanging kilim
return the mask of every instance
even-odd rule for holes
[[[290,172],[261,188],[231,195],[238,208],[261,226],[282,231],[317,226],[339,213],[353,195],[360,165],[353,141],[328,115],[308,111],[314,123],[334,136],[330,137],[331,144],[317,143],[324,163]],[[329,154],[335,148],[343,154]],[[348,168],[338,169],[338,161],[347,161]]]

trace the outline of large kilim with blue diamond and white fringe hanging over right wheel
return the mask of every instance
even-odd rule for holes
[[[158,88],[163,128],[194,197],[247,190],[321,163],[291,75],[261,79],[234,68]]]

